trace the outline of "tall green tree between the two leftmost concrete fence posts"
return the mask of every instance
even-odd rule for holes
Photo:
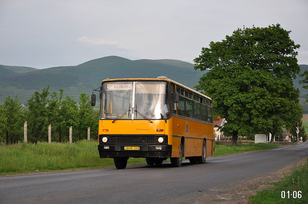
[[[33,140],[37,144],[38,140],[48,140],[47,127],[48,127],[48,116],[49,110],[47,108],[49,95],[49,85],[44,88],[42,93],[35,91],[34,95],[27,100],[28,111],[28,132],[29,139]]]

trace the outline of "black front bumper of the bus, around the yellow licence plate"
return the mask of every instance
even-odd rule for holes
[[[109,146],[109,149],[104,149],[104,146]],[[124,150],[124,146],[139,147],[139,150]],[[155,149],[156,146],[161,146],[161,149]],[[159,157],[170,158],[172,152],[171,145],[98,145],[100,158],[114,157]]]

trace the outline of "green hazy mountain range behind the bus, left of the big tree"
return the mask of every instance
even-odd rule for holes
[[[2,67],[3,68],[2,68]],[[10,69],[8,69],[10,67]],[[93,59],[77,66],[34,69],[0,65],[0,104],[8,95],[27,103],[35,90],[50,91],[64,88],[64,95],[79,100],[80,93],[88,95],[106,78],[156,78],[167,76],[190,88],[198,84],[204,72],[194,70],[194,65],[174,59],[130,60],[117,56]],[[22,69],[24,68],[24,69]]]

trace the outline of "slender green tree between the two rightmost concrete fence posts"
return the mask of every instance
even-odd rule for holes
[[[86,93],[81,93],[79,97],[79,110],[77,118],[77,134],[78,140],[81,140],[82,132],[86,132],[87,128],[92,125],[93,119],[93,109],[91,106],[91,101]]]

